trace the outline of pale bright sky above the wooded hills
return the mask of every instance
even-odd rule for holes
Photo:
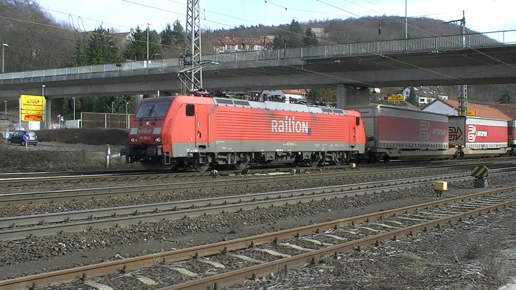
[[[35,0],[43,11],[77,30],[101,24],[118,32],[140,26],[158,33],[167,23],[186,22],[186,0]],[[210,29],[279,25],[309,20],[376,15],[462,19],[479,32],[516,29],[515,0],[200,0],[201,27]],[[409,23],[410,24],[410,23]]]

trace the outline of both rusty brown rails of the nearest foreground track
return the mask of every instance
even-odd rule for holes
[[[14,290],[21,289],[24,287],[33,287],[37,288],[43,284],[53,284],[62,281],[71,281],[75,279],[88,279],[92,277],[99,277],[103,275],[108,275],[110,273],[116,272],[127,272],[132,269],[137,269],[141,267],[149,267],[159,263],[172,263],[185,261],[192,258],[199,258],[203,256],[216,255],[221,252],[241,250],[247,247],[253,247],[255,245],[262,245],[270,243],[274,240],[288,239],[294,238],[303,235],[309,235],[313,233],[322,232],[332,228],[342,228],[350,224],[358,224],[362,222],[367,222],[371,220],[384,219],[390,216],[402,215],[410,212],[414,212],[417,210],[421,210],[429,207],[436,207],[440,205],[445,205],[449,203],[459,202],[463,200],[471,200],[481,197],[489,197],[494,195],[503,194],[504,192],[514,191],[516,186],[507,187],[502,189],[496,189],[492,191],[480,192],[476,194],[470,194],[465,196],[453,197],[438,201],[427,202],[423,204],[417,204],[412,206],[406,206],[401,208],[396,208],[394,210],[382,211],[373,214],[366,214],[357,217],[350,217],[335,221],[329,221],[314,225],[308,225],[301,228],[283,230],[279,232],[266,233],[262,235],[256,235],[251,237],[239,238],[230,241],[221,241],[219,243],[202,245],[197,247],[191,247],[186,249],[179,249],[174,251],[144,255],[139,257],[133,257],[130,259],[123,259],[118,261],[110,261],[101,264],[94,264],[82,267],[76,267],[72,269],[59,270],[54,272],[40,273],[33,276],[26,276],[20,278],[14,278],[10,280],[0,281],[0,290]],[[396,229],[393,231],[372,235],[369,237],[349,241],[344,244],[331,246],[329,248],[320,249],[316,251],[312,251],[310,253],[304,253],[296,256],[292,256],[286,259],[276,260],[273,262],[251,266],[249,268],[244,268],[232,272],[226,272],[219,275],[215,275],[212,277],[202,278],[196,281],[190,281],[186,283],[182,283],[179,285],[171,285],[167,287],[163,287],[156,290],[180,290],[180,289],[206,289],[210,287],[219,288],[222,286],[228,286],[236,283],[237,281],[242,281],[244,279],[250,279],[252,277],[257,277],[264,275],[268,272],[274,271],[278,268],[284,266],[300,266],[307,263],[310,263],[315,256],[321,256],[325,254],[334,254],[338,252],[343,252],[348,249],[360,249],[362,246],[372,245],[375,243],[379,243],[381,240],[392,239],[399,237],[401,235],[409,235],[414,234],[417,231],[428,230],[434,227],[440,227],[441,225],[453,222],[460,221],[464,218],[473,217],[474,215],[478,215],[481,213],[486,213],[490,211],[497,210],[499,208],[505,208],[507,206],[511,206],[516,204],[516,200],[504,201],[498,204],[489,205],[486,207],[481,207],[476,210],[471,210],[455,215],[451,215],[448,217],[443,217],[431,221],[425,221],[420,224],[410,225],[409,227]]]

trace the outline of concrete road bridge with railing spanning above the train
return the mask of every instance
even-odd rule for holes
[[[234,91],[516,83],[516,30],[204,55],[203,86]],[[178,93],[180,59],[0,74],[0,98]]]

